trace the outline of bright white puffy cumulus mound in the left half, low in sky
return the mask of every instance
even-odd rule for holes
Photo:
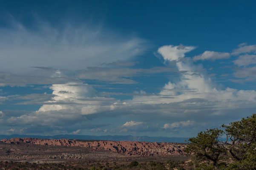
[[[110,105],[116,101],[112,98],[97,96],[94,88],[83,83],[70,82],[52,85],[50,88],[55,96],[48,101],[48,104],[41,106],[37,112],[67,110],[88,115],[110,110]]]

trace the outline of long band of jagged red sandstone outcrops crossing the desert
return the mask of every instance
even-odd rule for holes
[[[9,144],[41,144],[51,146],[78,146],[93,148],[96,150],[109,150],[131,156],[171,156],[184,155],[186,144],[178,143],[156,143],[156,142],[130,142],[130,141],[94,141],[82,142],[69,139],[35,139],[35,138],[12,138],[3,139],[2,142]]]

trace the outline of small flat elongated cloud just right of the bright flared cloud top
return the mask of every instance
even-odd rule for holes
[[[230,57],[229,53],[215,52],[215,51],[204,51],[203,54],[193,57],[194,61],[198,60],[215,60],[215,59],[227,59]]]

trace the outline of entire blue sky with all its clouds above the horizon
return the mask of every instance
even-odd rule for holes
[[[255,8],[1,0],[0,134],[191,137],[250,116]]]

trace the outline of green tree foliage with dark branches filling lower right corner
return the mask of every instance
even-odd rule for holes
[[[189,139],[185,152],[195,169],[256,170],[256,114],[222,127],[225,133],[214,128]],[[226,142],[219,140],[224,134]]]

